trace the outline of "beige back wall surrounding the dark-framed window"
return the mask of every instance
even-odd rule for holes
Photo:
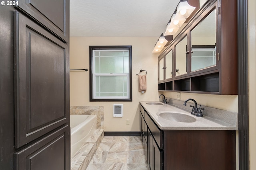
[[[89,102],[89,71],[70,72],[70,106],[104,106],[105,131],[139,131],[139,101],[158,100],[158,37],[70,37],[70,69],[89,69],[89,45],[132,45],[132,102]],[[140,69],[146,70],[147,91],[138,91]],[[142,72],[141,74],[144,74]],[[113,117],[113,104],[123,104],[123,117]],[[130,125],[126,125],[126,119]]]

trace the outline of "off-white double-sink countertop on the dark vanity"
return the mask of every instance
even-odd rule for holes
[[[236,125],[231,125],[223,121],[219,121],[216,119],[212,119],[211,117],[196,117],[195,115],[191,115],[190,112],[178,108],[176,106],[171,106],[169,104],[162,105],[148,105],[146,103],[154,102],[154,103],[162,103],[156,101],[146,101],[140,102],[140,104],[146,109],[147,113],[154,120],[154,122],[158,125],[158,127],[162,130],[237,130],[238,127]],[[188,106],[190,109],[190,107]],[[165,111],[172,111],[176,113],[182,113],[189,116],[192,116],[196,119],[195,122],[192,123],[184,123],[177,121],[166,120],[159,116],[159,113]]]

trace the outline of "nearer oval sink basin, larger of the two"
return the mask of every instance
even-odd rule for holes
[[[182,113],[163,112],[163,113],[159,113],[159,116],[169,121],[178,121],[178,122],[184,122],[184,123],[192,123],[196,121],[196,118],[190,115],[182,114]]]

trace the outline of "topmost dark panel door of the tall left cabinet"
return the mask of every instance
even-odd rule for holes
[[[64,42],[69,34],[69,0],[19,0],[18,9],[38,21]]]

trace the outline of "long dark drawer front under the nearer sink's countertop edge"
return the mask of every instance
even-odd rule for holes
[[[145,111],[144,119],[146,124],[148,125],[148,129],[151,131],[153,138],[155,139],[158,147],[160,149],[164,148],[164,132],[161,131],[157,125],[154,123],[154,121],[150,118],[148,113]]]

